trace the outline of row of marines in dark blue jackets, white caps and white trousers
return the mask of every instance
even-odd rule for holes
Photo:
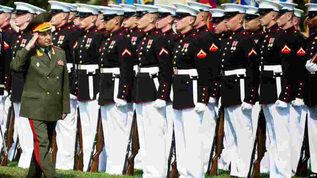
[[[6,40],[7,31],[12,28],[2,28],[6,56],[5,65],[2,65],[5,73],[1,104],[11,94],[15,113],[19,113],[16,114],[16,121],[20,123],[17,130],[25,154],[20,158],[19,167],[28,167],[32,157],[33,134],[28,119],[32,118],[58,120],[56,168],[72,169],[75,116],[79,107],[86,170],[99,105],[106,144],[100,156],[101,170],[121,173],[129,122],[135,110],[143,177],[165,177],[167,174],[166,160],[173,128],[180,177],[204,177],[218,105],[222,105],[225,148],[219,168],[228,169],[230,165],[232,177],[247,177],[256,115],[262,108],[268,137],[267,165],[263,168],[270,177],[294,175],[306,114],[311,168],[317,172],[317,155],[313,149],[317,141],[313,137],[317,126],[316,104],[312,92],[317,70],[312,62],[317,37],[313,34],[307,39],[300,33],[298,24],[302,11],[295,9],[297,4],[262,0],[257,2],[259,8],[222,4],[224,10],[220,10],[195,2],[174,3],[176,8],[49,3],[52,14],[49,21],[55,30],[48,39],[54,45],[48,53],[52,55],[54,49],[60,48],[65,51],[70,96],[63,95],[61,99],[59,92],[47,87],[52,80],[49,76],[47,81],[36,81],[45,91],[22,92],[27,70],[20,70],[19,59],[25,56],[24,48],[34,38],[23,30],[32,22],[37,8],[16,2],[14,13],[19,32],[12,32]],[[317,4],[306,6],[307,24],[314,29]],[[4,6],[2,9],[4,16],[13,10]],[[207,28],[210,12],[214,33]],[[172,29],[173,23],[177,33]],[[12,36],[13,41],[10,40]],[[45,64],[34,65],[42,67]],[[8,72],[9,68],[12,73]],[[72,82],[75,70],[78,83]],[[14,94],[15,90],[18,94]],[[22,101],[42,99],[45,102],[46,97],[42,97],[45,95],[60,98],[63,108],[50,106],[39,114],[37,106],[27,105],[27,102],[20,106],[21,98]],[[56,113],[52,109],[57,110]],[[60,120],[56,115],[62,113],[67,116]],[[41,149],[36,147],[35,144],[34,150]],[[47,148],[48,145],[46,151]],[[39,162],[44,155],[40,154]],[[41,162],[41,169],[47,177],[56,175],[49,163]]]

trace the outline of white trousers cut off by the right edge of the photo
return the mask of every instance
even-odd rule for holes
[[[308,142],[310,149],[310,161],[312,172],[317,173],[317,106],[307,107],[307,126],[308,126]]]

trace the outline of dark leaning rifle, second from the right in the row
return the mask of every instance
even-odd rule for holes
[[[251,155],[248,178],[251,178],[251,177],[260,178],[260,164],[261,164],[262,158],[264,157],[264,153],[266,152],[265,141],[266,141],[266,121],[265,121],[263,109],[261,107],[261,111],[259,112],[258,125],[256,128],[256,138],[254,140],[254,145],[253,145],[253,150]],[[256,151],[257,151],[257,158],[256,158],[256,161],[253,162],[253,160],[255,159]]]

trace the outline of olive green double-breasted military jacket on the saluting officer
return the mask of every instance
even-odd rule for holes
[[[65,51],[52,46],[50,54],[51,59],[38,47],[30,51],[22,48],[10,63],[15,71],[27,68],[20,106],[22,117],[56,121],[62,113],[70,113]]]

